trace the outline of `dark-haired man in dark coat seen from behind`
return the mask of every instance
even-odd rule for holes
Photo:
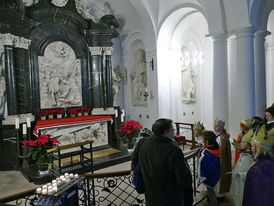
[[[192,178],[182,150],[173,143],[172,121],[158,119],[152,132],[138,154],[146,205],[184,206],[183,191],[192,191]]]

